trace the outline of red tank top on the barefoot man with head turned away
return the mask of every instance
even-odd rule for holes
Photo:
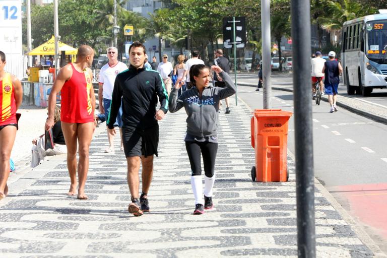
[[[93,90],[90,74],[78,72],[73,64],[73,75],[61,89],[60,120],[67,123],[94,122],[90,91]]]

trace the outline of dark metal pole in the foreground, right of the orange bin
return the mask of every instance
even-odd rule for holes
[[[316,256],[310,94],[310,1],[292,0],[298,257]]]

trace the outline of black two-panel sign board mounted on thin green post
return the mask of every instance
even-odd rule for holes
[[[234,44],[232,17],[223,18],[223,45],[231,48]],[[246,45],[246,21],[244,17],[235,17],[235,43],[237,48]]]

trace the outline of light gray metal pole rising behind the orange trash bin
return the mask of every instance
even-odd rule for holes
[[[262,69],[264,81],[264,109],[272,108],[272,69],[270,47],[270,0],[261,0]]]

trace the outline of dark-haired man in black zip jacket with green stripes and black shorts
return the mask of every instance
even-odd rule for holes
[[[129,48],[129,56],[129,69],[118,74],[115,79],[106,122],[109,133],[115,135],[113,117],[117,115],[122,98],[122,140],[127,160],[127,183],[132,195],[128,211],[141,216],[143,212],[149,212],[148,190],[153,175],[153,155],[157,156],[159,143],[157,121],[163,119],[168,110],[168,94],[160,74],[144,67],[143,44],[134,42]],[[157,97],[160,99],[158,111]],[[143,170],[142,194],[139,200],[140,161]]]

